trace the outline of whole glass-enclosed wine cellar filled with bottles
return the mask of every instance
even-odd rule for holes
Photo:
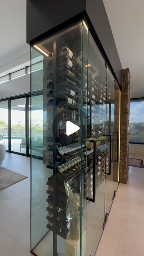
[[[120,88],[84,21],[31,46],[34,255],[95,255],[118,187],[119,124]]]

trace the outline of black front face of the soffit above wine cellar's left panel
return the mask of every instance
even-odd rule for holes
[[[27,43],[84,11],[85,4],[85,0],[27,0]]]

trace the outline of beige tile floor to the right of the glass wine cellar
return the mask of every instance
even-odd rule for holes
[[[128,184],[119,184],[96,256],[144,256],[144,168],[129,166]]]

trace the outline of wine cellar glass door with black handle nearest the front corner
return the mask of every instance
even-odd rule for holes
[[[85,78],[85,77],[84,77]],[[106,66],[88,34],[88,128],[86,255],[95,255],[104,223],[106,155]]]

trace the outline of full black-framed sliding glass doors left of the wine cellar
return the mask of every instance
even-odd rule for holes
[[[30,156],[30,95],[0,100],[0,144]]]

